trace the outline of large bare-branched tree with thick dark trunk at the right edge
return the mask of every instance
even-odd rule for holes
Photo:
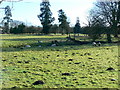
[[[106,27],[109,27],[104,32],[107,35],[107,41],[112,42],[111,34],[118,36],[117,24],[119,23],[119,3],[118,2],[97,2],[95,4],[94,20],[101,19]]]

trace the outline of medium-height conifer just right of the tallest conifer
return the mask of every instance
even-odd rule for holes
[[[58,20],[60,22],[59,27],[62,30],[62,34],[69,34],[69,22],[67,22],[67,16],[62,9],[58,11]]]

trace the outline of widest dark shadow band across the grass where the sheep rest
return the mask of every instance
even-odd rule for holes
[[[31,47],[8,47],[2,48],[2,52],[21,52],[21,51],[69,51],[69,50],[80,50],[80,49],[88,49],[88,48],[98,48],[92,46],[90,43],[88,44],[75,44],[74,42],[62,42],[59,46],[51,46],[51,43],[42,43],[42,47],[38,47],[39,45],[36,43],[30,44]],[[118,46],[116,43],[111,44],[103,44],[99,47],[105,46]]]

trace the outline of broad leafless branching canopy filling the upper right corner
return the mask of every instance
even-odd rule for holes
[[[117,25],[120,22],[120,1],[119,2],[96,2],[95,7],[90,12],[90,27],[107,27],[101,29],[102,33],[106,33],[108,42],[111,42],[111,34],[118,36]],[[95,29],[92,29],[94,32]],[[90,31],[91,32],[91,31]],[[100,29],[97,29],[97,33]]]

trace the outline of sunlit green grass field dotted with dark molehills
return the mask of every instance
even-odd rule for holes
[[[2,88],[118,88],[117,44],[67,45],[65,37],[2,35]],[[52,40],[61,46],[47,46]]]

